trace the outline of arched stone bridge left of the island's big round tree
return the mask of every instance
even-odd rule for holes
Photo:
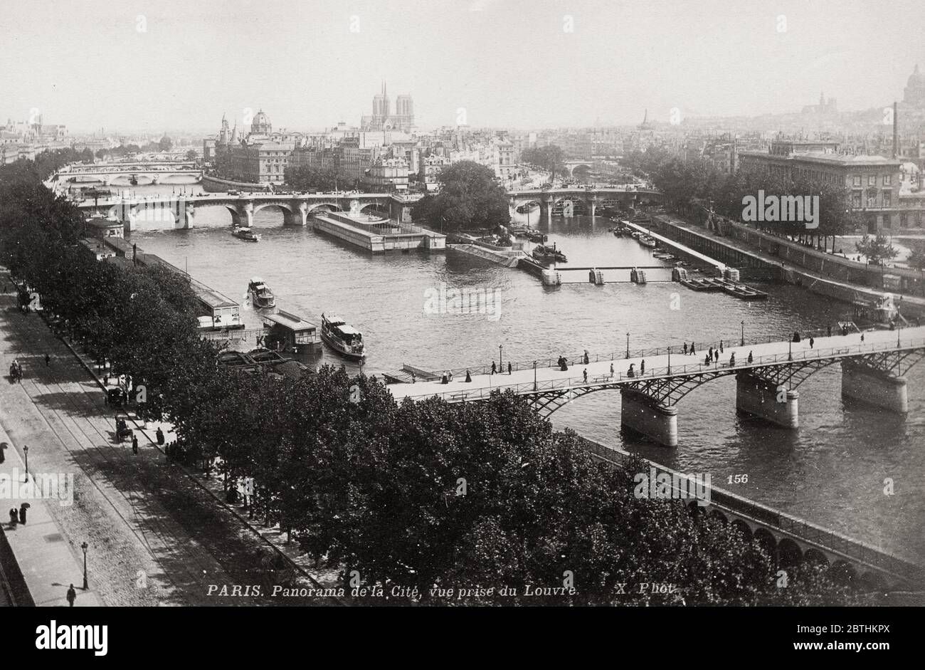
[[[313,213],[322,210],[351,212],[388,211],[389,217],[411,220],[411,206],[416,198],[391,193],[252,193],[247,195],[228,195],[227,193],[207,193],[172,198],[145,198],[141,200],[105,200],[87,201],[80,206],[88,212],[114,214],[120,220],[128,220],[129,213],[169,212],[177,222],[175,228],[193,228],[196,210],[201,207],[225,207],[231,214],[234,226],[251,226],[253,215],[262,209],[273,207],[281,210],[287,226],[304,226]]]

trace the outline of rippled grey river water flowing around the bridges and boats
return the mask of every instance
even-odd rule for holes
[[[169,193],[171,188],[135,190]],[[531,217],[534,225],[536,218]],[[637,242],[614,238],[609,225],[601,217],[554,217],[540,221],[538,228],[568,255],[563,267],[658,264]],[[230,215],[223,208],[197,208],[196,226],[136,232],[132,241],[189,267],[194,278],[242,299],[247,310],[248,280],[259,276],[276,293],[277,306],[287,311],[316,324],[322,312],[336,313],[363,331],[367,374],[396,370],[403,363],[425,369],[487,365],[499,353],[505,364],[583,350],[592,356],[610,354],[625,350],[627,332],[633,349],[737,339],[743,320],[746,338],[783,339],[795,329],[825,328],[851,311],[849,305],[780,284],[756,284],[771,297],[751,304],[672,283],[543,287],[522,270],[456,255],[372,256],[310,227],[284,228],[281,212],[274,209],[254,217],[254,228],[263,235],[257,244],[231,237]],[[428,295],[444,285],[484,291],[497,301],[497,311],[427,313]],[[249,324],[259,325],[253,312],[244,314]],[[313,361],[341,362],[327,350]],[[552,419],[557,428],[574,428],[589,439],[683,472],[709,473],[716,486],[922,560],[925,366],[913,368],[908,379],[904,420],[843,400],[839,367],[825,368],[799,387],[800,428],[789,431],[738,416],[734,378],[720,378],[678,403],[679,446],[674,449],[621,435],[617,391],[578,398]],[[747,483],[728,483],[734,475],[747,475]],[[884,494],[887,478],[894,481],[894,495]]]

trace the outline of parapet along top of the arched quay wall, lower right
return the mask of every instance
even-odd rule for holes
[[[614,459],[632,455],[608,449],[586,438],[581,438],[581,441],[586,445],[587,451],[597,454],[604,460],[611,461],[611,463],[616,463],[618,465],[620,465],[619,461]],[[690,479],[689,475],[676,472],[670,467],[659,465],[649,461],[647,458],[642,458],[642,460],[646,461],[648,465],[654,467],[656,470],[668,474],[672,478],[672,490],[678,490],[679,493],[682,489],[681,487],[676,487],[675,484],[680,483],[681,480],[686,481]],[[686,490],[690,489],[687,488]],[[870,565],[897,577],[903,577],[915,585],[921,584],[923,578],[925,578],[925,570],[923,570],[921,566],[894,556],[891,553],[883,552],[870,544],[852,540],[833,530],[816,526],[796,516],[788,515],[780,510],[775,510],[760,502],[748,500],[730,491],[717,489],[712,485],[709,487],[709,492],[710,502],[735,515],[744,516],[764,526],[777,528],[798,540],[810,542],[823,550],[838,552],[851,561]]]

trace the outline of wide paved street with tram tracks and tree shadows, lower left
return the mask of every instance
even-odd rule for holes
[[[117,444],[103,392],[38,315],[19,312],[12,293],[0,295],[0,334],[0,424],[20,458],[29,447],[32,473],[74,475],[73,504],[47,509],[75,556],[89,543],[91,587],[103,604],[272,602],[206,595],[209,584],[265,583],[262,540],[147,440],[137,455]],[[6,374],[14,358],[21,385]]]

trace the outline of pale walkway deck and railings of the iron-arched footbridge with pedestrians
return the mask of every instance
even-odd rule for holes
[[[740,345],[736,346],[741,348]],[[844,347],[830,347],[828,349],[809,349],[787,354],[768,354],[754,357],[750,362],[746,358],[743,358],[741,362],[736,361],[734,365],[721,361],[715,361],[710,365],[701,362],[691,365],[684,364],[680,366],[652,367],[648,368],[644,374],[640,374],[638,370],[635,371],[635,374],[633,375],[628,374],[628,372],[614,371],[612,375],[598,375],[597,377],[588,377],[588,380],[586,380],[584,375],[582,375],[580,377],[545,379],[542,381],[529,381],[519,384],[499,384],[498,386],[488,386],[487,388],[477,387],[472,391],[454,388],[453,391],[444,391],[442,393],[424,393],[421,395],[409,395],[407,397],[412,398],[413,400],[423,400],[425,398],[437,397],[448,402],[486,400],[491,396],[493,391],[510,390],[517,395],[532,395],[543,391],[578,391],[581,389],[596,388],[615,383],[638,381],[639,379],[683,377],[685,375],[697,375],[705,372],[717,372],[719,370],[746,370],[753,367],[785,365],[798,361],[819,360],[823,358],[838,359],[863,354],[876,354],[879,352],[894,352],[912,349],[925,349],[925,339],[903,342],[900,346],[877,343],[854,344]],[[681,354],[681,356],[683,355],[684,354]],[[530,367],[533,367],[532,363],[530,364]],[[463,370],[462,374],[465,374],[465,370]],[[499,378],[503,378],[502,373],[497,374],[499,375]],[[453,372],[453,376],[456,377],[456,372]],[[490,380],[494,378],[494,375],[489,375],[488,378],[490,383]]]

